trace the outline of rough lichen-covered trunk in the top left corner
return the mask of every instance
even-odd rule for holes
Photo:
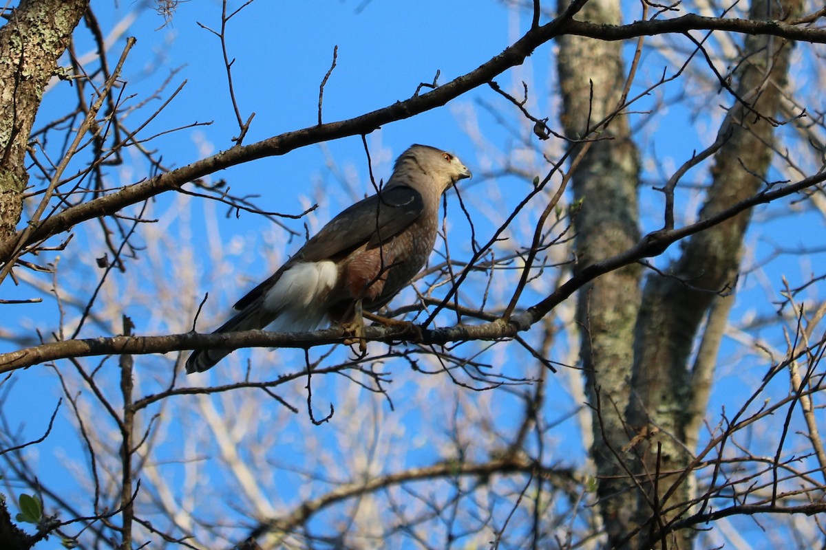
[[[88,0],[23,0],[0,29],[0,241],[14,233],[43,91]]]

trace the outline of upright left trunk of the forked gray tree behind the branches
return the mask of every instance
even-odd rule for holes
[[[577,18],[619,24],[619,4],[612,0],[588,2]],[[590,144],[573,172],[574,195],[583,201],[574,220],[577,269],[582,269],[638,242],[638,151],[622,115],[598,133],[585,135],[621,101],[626,78],[622,49],[615,43],[566,36],[559,40],[558,71],[567,136],[599,139]],[[595,415],[600,420],[593,425],[592,454],[601,478],[597,488],[601,513],[611,540],[621,538],[634,517],[626,503],[627,494],[616,496],[628,481],[611,449],[619,452],[629,439],[618,413],[629,400],[627,380],[633,363],[639,278],[638,266],[624,267],[586,285],[578,299],[586,392],[592,406],[601,403]]]

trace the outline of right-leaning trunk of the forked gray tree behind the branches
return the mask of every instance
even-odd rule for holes
[[[780,19],[795,16],[801,8],[801,2],[783,2],[778,7],[775,3],[757,0],[752,3],[751,17]],[[747,38],[743,51],[746,61],[734,74],[734,82],[738,96],[750,107],[738,102],[724,120],[720,132],[725,143],[714,157],[714,179],[700,218],[727,209],[764,187],[775,127],[767,118],[779,110],[791,49],[792,44],[786,40],[764,35]],[[680,472],[690,460],[683,444],[697,440],[700,427],[697,415],[705,412],[705,402],[698,402],[697,397],[701,397],[699,401],[705,400],[710,383],[708,373],[691,372],[691,350],[710,308],[723,300],[718,293],[726,294],[736,283],[750,217],[749,211],[744,212],[691,237],[670,270],[676,278],[648,276],[635,338],[631,384],[635,397],[629,402],[627,415],[630,425],[659,429],[657,435],[636,448],[648,472],[657,469]],[[706,330],[720,330],[719,322],[710,322]],[[712,350],[700,347],[700,351],[706,356],[716,355],[719,337],[706,335],[705,342],[711,342]],[[707,357],[698,357],[698,369],[705,361]],[[658,459],[657,445],[661,446]],[[656,500],[664,508],[690,497],[690,484],[683,482],[669,501],[662,501],[674,478],[662,476],[657,483]],[[648,496],[652,498],[653,495]],[[650,508],[641,496],[637,506],[638,524],[653,523]],[[667,514],[663,519],[672,518]],[[676,543],[681,544],[680,548],[688,548],[690,541],[686,533],[677,538]]]

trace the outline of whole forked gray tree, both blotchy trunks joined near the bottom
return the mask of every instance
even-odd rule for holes
[[[780,19],[772,9],[776,5],[754,2],[752,18]],[[783,9],[794,14],[800,6],[786,2]],[[577,18],[619,23],[619,2],[589,2]],[[627,78],[622,52],[615,44],[584,38],[565,37],[559,45],[563,125],[568,137],[580,138],[617,106]],[[726,143],[715,157],[714,181],[701,218],[762,188],[773,131],[764,117],[778,109],[790,50],[788,41],[765,35],[746,40],[743,58],[748,62],[741,64],[733,82],[752,108],[738,102],[724,123]],[[589,112],[591,119],[586,120]],[[598,135],[615,139],[593,143],[573,173],[574,194],[583,200],[575,220],[579,269],[629,248],[638,236],[637,150],[624,118],[618,116]],[[656,547],[657,529],[684,511],[662,510],[690,497],[691,483],[683,480],[668,501],[662,501],[676,478],[662,474],[653,495],[655,472],[681,472],[690,460],[684,445],[696,442],[710,384],[709,361],[716,355],[719,335],[704,338],[696,373],[691,371],[691,350],[710,308],[722,300],[715,293],[735,283],[748,221],[748,213],[740,214],[692,237],[671,269],[676,278],[649,275],[642,299],[634,268],[603,275],[579,294],[586,384],[591,405],[599,406],[592,454],[610,548]],[[719,304],[717,311],[727,312],[726,305]],[[715,317],[707,330],[720,327]],[[634,445],[623,449],[635,435],[640,437]],[[638,476],[638,487],[629,472]],[[635,530],[638,535],[629,537]],[[651,536],[656,540],[649,541]],[[672,534],[668,545],[691,548],[691,539],[688,531]]]

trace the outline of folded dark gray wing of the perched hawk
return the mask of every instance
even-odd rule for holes
[[[378,247],[419,219],[424,207],[419,191],[407,186],[393,186],[360,200],[331,219],[290,261],[235,303],[235,309],[253,303],[296,262],[338,261],[358,247]]]

